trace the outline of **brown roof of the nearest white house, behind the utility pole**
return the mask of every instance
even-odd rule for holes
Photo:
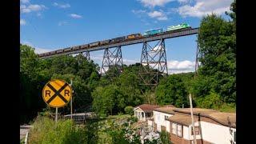
[[[190,108],[175,109],[174,116],[168,118],[172,122],[182,123],[186,126],[191,124]],[[218,122],[223,126],[236,127],[236,114],[235,113],[224,113],[218,110],[194,108],[194,121],[197,122],[198,116],[203,118],[209,118],[214,122]],[[229,123],[230,121],[230,123]]]

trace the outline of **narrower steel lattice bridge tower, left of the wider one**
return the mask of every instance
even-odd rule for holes
[[[121,46],[115,47],[112,51],[106,48],[102,59],[101,74],[105,75],[108,70],[111,70],[108,72],[110,75],[120,74],[122,72],[122,65]]]

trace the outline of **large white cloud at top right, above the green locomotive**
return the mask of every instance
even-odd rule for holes
[[[223,14],[230,11],[230,4],[233,0],[195,0],[194,6],[185,5],[178,7],[178,13],[183,17],[202,17],[206,14]]]

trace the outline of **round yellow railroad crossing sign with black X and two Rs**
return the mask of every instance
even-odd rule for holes
[[[50,107],[66,106],[71,97],[72,88],[68,83],[60,79],[51,80],[42,89],[42,98]]]

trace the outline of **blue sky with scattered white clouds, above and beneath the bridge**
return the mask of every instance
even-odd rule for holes
[[[21,0],[20,42],[40,54],[145,30],[188,23],[200,26],[206,14],[226,18],[233,0]],[[194,71],[197,35],[166,39],[169,74]],[[154,42],[150,43],[154,45]],[[90,52],[102,65],[104,50]],[[126,65],[140,62],[142,44],[122,46]]]

